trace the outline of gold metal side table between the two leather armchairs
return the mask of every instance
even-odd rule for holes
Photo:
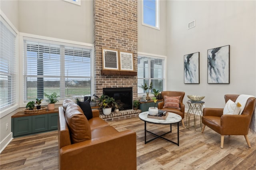
[[[204,101],[187,101],[188,103],[188,112],[186,116],[186,127],[189,130],[202,131],[202,106],[204,105]],[[190,119],[194,117],[194,123],[190,125]],[[200,124],[196,124],[196,120],[200,119]],[[201,130],[197,130],[197,128],[201,127]]]

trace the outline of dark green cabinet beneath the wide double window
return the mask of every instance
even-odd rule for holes
[[[58,129],[58,113],[12,118],[12,136],[25,136]]]

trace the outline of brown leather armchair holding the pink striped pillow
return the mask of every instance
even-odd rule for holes
[[[183,98],[185,96],[185,92],[183,92],[183,91],[162,91],[161,95],[162,95],[163,101],[158,103],[158,109],[176,113],[176,114],[180,115],[182,117],[182,120],[181,120],[182,126],[185,128],[184,121],[183,121],[184,115],[185,115],[185,105],[183,104]],[[169,96],[169,97],[180,96],[180,110],[175,109],[175,108],[164,107],[164,96]]]

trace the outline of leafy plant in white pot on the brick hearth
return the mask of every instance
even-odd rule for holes
[[[112,107],[116,104],[115,99],[113,97],[109,97],[108,95],[102,95],[99,98],[99,102],[104,115],[110,115]]]

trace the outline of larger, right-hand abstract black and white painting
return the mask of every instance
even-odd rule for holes
[[[230,45],[208,49],[208,84],[229,84]]]

